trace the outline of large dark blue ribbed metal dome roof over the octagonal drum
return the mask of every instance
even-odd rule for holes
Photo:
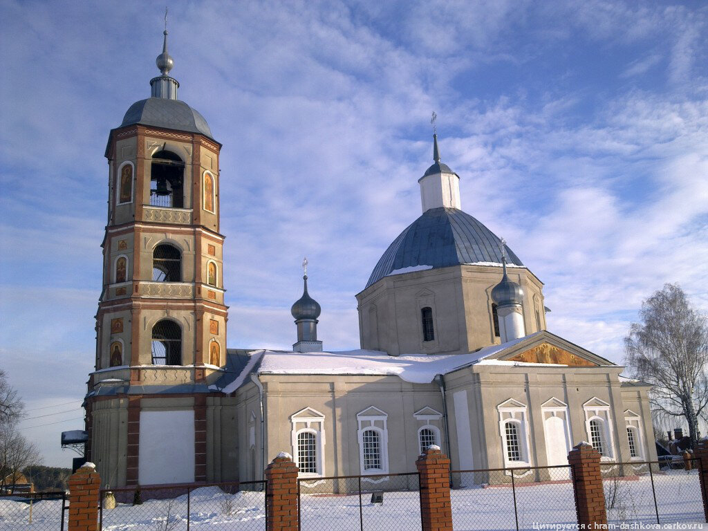
[[[501,239],[479,221],[456,208],[433,208],[401,232],[379,259],[371,273],[369,287],[394,270],[430,265],[447,268],[475,262],[500,263]],[[507,263],[523,266],[506,248]]]

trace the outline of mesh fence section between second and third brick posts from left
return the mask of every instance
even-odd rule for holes
[[[420,530],[418,472],[300,478],[301,531]]]

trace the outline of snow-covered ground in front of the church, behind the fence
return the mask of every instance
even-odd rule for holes
[[[697,473],[683,471],[654,474],[661,523],[701,522],[703,509]],[[605,491],[615,493],[608,517],[611,523],[641,521],[656,523],[649,476],[634,481],[606,480]],[[515,530],[513,492],[510,486],[455,489],[452,520],[455,531]],[[382,505],[370,503],[362,494],[361,514],[365,530],[419,530],[421,516],[418,492],[385,492]],[[569,482],[530,484],[516,489],[519,526],[531,529],[534,523],[576,521],[573,489]],[[264,495],[240,492],[234,495],[218,487],[195,489],[190,494],[190,530],[264,531]],[[358,530],[359,496],[304,494],[302,531]],[[103,530],[181,531],[187,527],[187,496],[171,500],[148,500],[140,506],[118,504],[103,511]],[[0,531],[59,531],[61,501],[33,503],[33,523],[29,505],[0,499]]]

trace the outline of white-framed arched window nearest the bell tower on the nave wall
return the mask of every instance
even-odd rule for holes
[[[299,469],[299,476],[324,475],[324,415],[312,408],[305,408],[290,416],[292,423],[292,455]]]

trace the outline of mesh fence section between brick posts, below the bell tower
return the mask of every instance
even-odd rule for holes
[[[265,481],[101,490],[99,529],[265,531]]]

